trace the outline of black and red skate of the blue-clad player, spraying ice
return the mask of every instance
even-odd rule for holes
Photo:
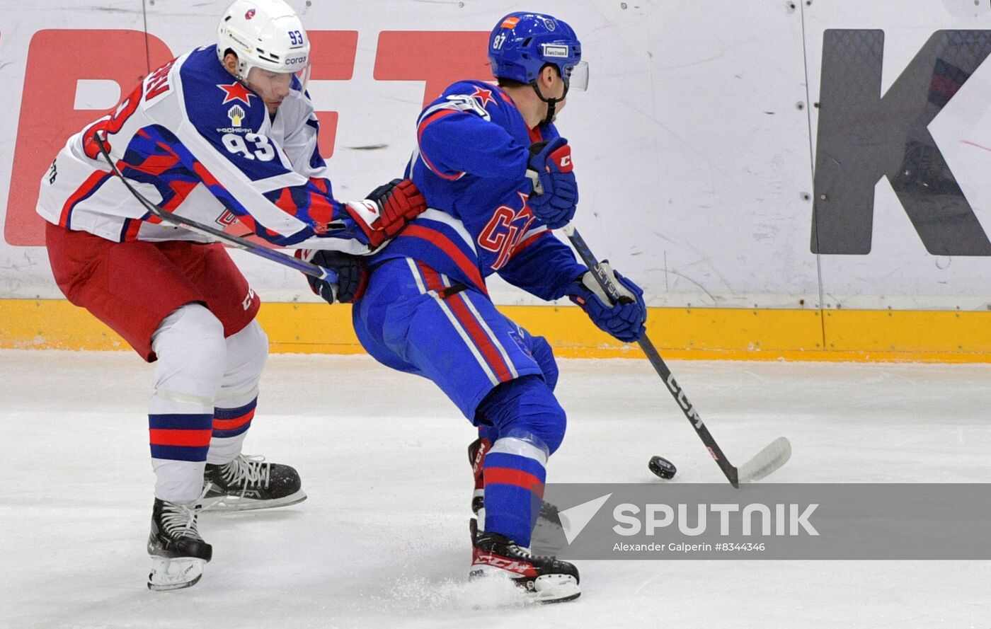
[[[542,603],[574,600],[582,594],[574,565],[553,557],[533,557],[528,549],[503,535],[479,533],[472,528],[474,548],[469,578],[509,578]]]

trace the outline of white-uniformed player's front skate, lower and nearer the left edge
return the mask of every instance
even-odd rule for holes
[[[155,499],[148,536],[148,554],[154,561],[149,589],[189,587],[203,576],[203,565],[213,557],[213,547],[196,530],[198,511],[198,506]]]

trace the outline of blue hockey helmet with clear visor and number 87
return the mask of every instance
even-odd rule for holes
[[[565,85],[586,89],[588,64],[574,29],[540,13],[510,13],[489,36],[489,61],[496,78],[535,84],[548,63],[558,68]]]

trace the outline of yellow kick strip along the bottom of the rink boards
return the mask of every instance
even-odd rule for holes
[[[559,357],[643,358],[575,307],[499,306]],[[349,304],[263,303],[275,353],[362,354]],[[648,335],[667,359],[991,363],[991,313],[651,308]],[[828,342],[824,345],[824,338]],[[112,330],[61,300],[0,300],[0,348],[129,350]]]

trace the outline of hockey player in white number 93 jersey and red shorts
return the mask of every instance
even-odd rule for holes
[[[258,295],[220,244],[147,212],[103,152],[163,210],[275,247],[367,254],[426,209],[409,181],[371,199],[334,199],[305,92],[309,40],[288,5],[238,0],[217,37],[152,72],[112,115],[70,138],[38,202],[58,287],[157,361],[152,589],[201,576],[212,555],[197,530],[204,505],[264,508],[306,496],[292,468],[241,454],[268,355]],[[351,300],[358,262],[320,260],[338,271],[338,300]]]

